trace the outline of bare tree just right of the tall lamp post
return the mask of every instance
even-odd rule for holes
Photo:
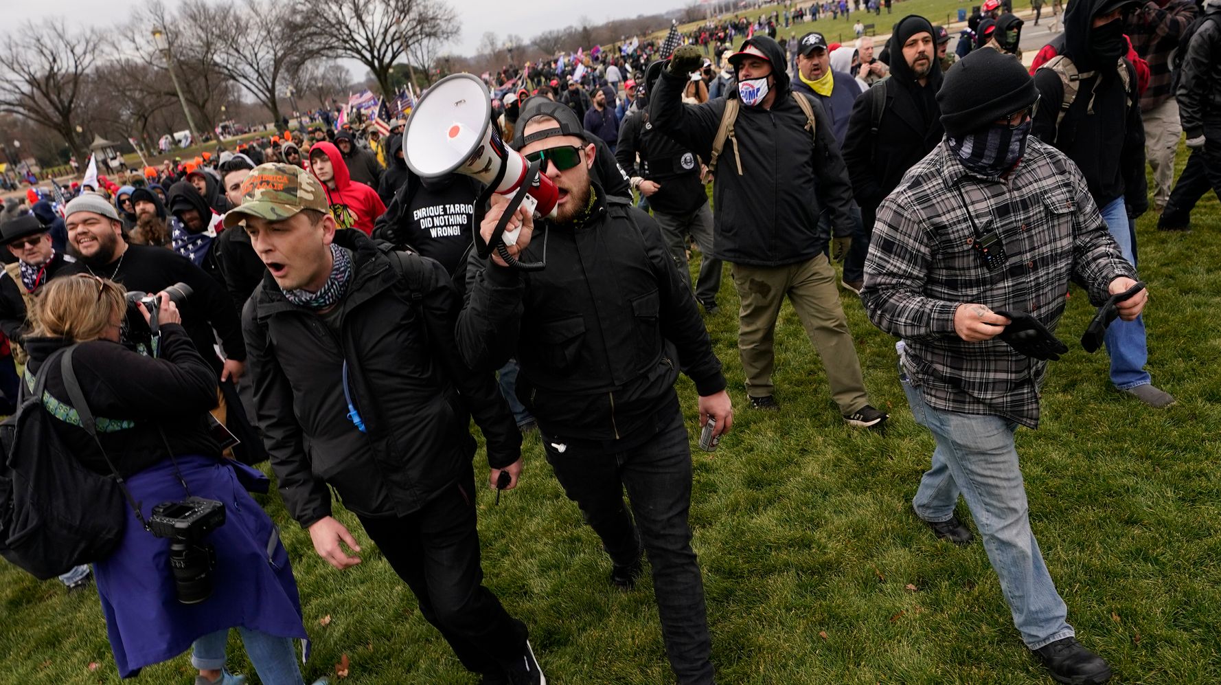
[[[295,67],[319,53],[300,40],[300,20],[292,7],[275,0],[244,0],[241,6],[219,6],[230,21],[219,31],[217,68],[237,82],[280,121],[282,85]]]

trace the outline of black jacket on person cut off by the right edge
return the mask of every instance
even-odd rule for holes
[[[1175,99],[1188,138],[1204,136],[1205,122],[1221,126],[1221,10],[1205,12],[1199,21],[1190,43],[1178,48],[1187,55]]]

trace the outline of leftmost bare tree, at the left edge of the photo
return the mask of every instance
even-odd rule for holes
[[[81,164],[85,148],[76,132],[77,101],[96,49],[94,31],[70,33],[62,20],[27,23],[0,49],[0,111],[56,132]]]

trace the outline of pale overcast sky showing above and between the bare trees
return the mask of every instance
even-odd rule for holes
[[[4,0],[4,28],[20,24],[27,20],[39,21],[45,16],[62,16],[68,26],[93,24],[99,28],[117,24],[122,17],[131,13],[144,0],[55,0],[54,2],[29,2],[22,0]],[[326,0],[316,0],[325,2]],[[470,55],[479,48],[484,32],[493,31],[501,35],[516,33],[529,40],[540,32],[552,28],[564,28],[576,23],[582,15],[596,23],[612,18],[634,17],[642,13],[657,13],[685,6],[689,0],[615,0],[582,6],[570,0],[447,0],[458,11],[463,22],[458,42],[451,51],[458,55]],[[170,2],[172,5],[172,2]],[[53,9],[51,13],[46,9]],[[589,48],[586,45],[585,48]],[[354,73],[357,78],[363,73]]]

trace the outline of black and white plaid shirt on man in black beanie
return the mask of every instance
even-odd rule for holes
[[[1009,255],[996,270],[974,247],[993,231]],[[962,303],[1027,311],[1054,331],[1070,280],[1098,305],[1120,276],[1134,278],[1136,269],[1062,153],[1031,137],[998,181],[968,172],[943,143],[878,208],[861,298],[879,328],[904,339],[901,364],[929,407],[1035,427],[1046,363],[999,338],[963,341],[954,311]]]

